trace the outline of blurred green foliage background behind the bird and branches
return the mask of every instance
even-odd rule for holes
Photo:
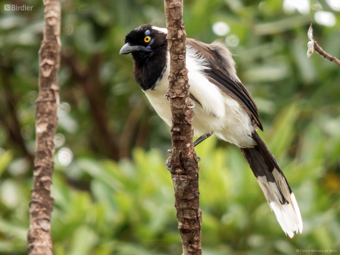
[[[33,6],[0,11],[0,254],[27,254],[43,2],[0,3]],[[323,0],[311,0],[306,15],[285,14],[282,6],[280,0],[184,1],[188,37],[210,43],[219,39],[212,24],[224,21],[239,38],[231,48],[238,75],[304,222],[301,235],[285,236],[239,149],[211,137],[197,147],[204,255],[340,251],[340,68],[316,53],[306,57],[311,22],[321,47],[340,57],[340,15]],[[334,27],[314,21],[321,9],[336,15]],[[56,255],[182,253],[164,166],[169,128],[136,85],[131,57],[118,54],[126,33],[145,23],[165,27],[163,1],[62,1],[58,133],[65,143],[56,148],[53,176]],[[66,148],[73,153],[67,166],[60,153]]]

